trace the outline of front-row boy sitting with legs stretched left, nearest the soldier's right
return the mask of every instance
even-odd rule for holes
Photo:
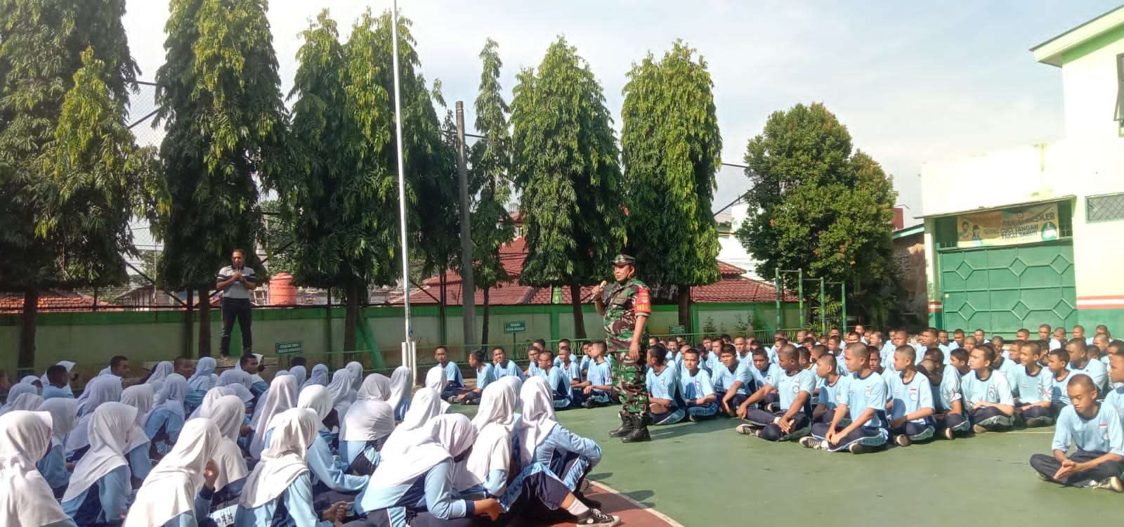
[[[777,361],[782,373],[770,375],[761,388],[737,407],[737,416],[749,421],[737,425],[738,434],[755,435],[768,440],[791,440],[808,434],[812,418],[806,409],[816,381],[800,369],[799,353],[791,344],[780,348]],[[769,412],[752,408],[774,389],[779,393],[778,410]]]

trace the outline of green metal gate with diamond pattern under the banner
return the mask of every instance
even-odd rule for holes
[[[1073,244],[942,252],[944,326],[1014,338],[1019,328],[1077,324]]]

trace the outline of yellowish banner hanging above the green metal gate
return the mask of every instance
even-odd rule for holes
[[[1058,239],[1058,203],[957,217],[957,247],[994,247]]]

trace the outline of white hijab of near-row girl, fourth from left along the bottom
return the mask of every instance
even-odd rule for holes
[[[320,429],[316,412],[293,408],[274,417],[272,425],[270,446],[262,451],[262,461],[246,478],[238,507],[253,509],[269,503],[308,472],[308,447]]]

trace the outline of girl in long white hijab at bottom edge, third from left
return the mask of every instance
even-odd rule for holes
[[[220,438],[208,419],[184,425],[179,443],[137,491],[125,527],[197,527],[207,519],[218,479],[211,457]]]

